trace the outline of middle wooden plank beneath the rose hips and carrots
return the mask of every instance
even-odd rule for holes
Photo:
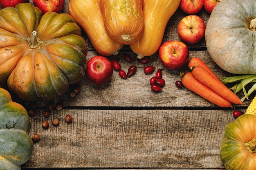
[[[133,61],[128,63],[123,59],[123,55],[129,54]],[[97,55],[95,52],[88,53],[88,60]],[[218,77],[231,75],[216,65],[207,51],[190,51],[190,57],[199,57],[204,60],[209,67],[216,73]],[[121,68],[128,71],[129,66],[137,66],[135,75],[128,79],[121,79],[117,71],[114,71],[110,81],[103,85],[95,85],[88,81],[86,76],[80,82],[81,92],[74,98],[69,97],[67,93],[61,95],[55,102],[63,101],[64,106],[115,106],[115,107],[215,107],[216,105],[208,102],[204,98],[189,91],[186,88],[180,89],[175,86],[177,80],[181,80],[180,72],[187,72],[187,65],[179,70],[171,71],[165,68],[159,60],[158,55],[150,56],[148,64],[140,64],[137,62],[136,55],[132,52],[120,53],[115,56],[108,57],[110,60],[115,59],[120,62]],[[145,66],[154,66],[155,72],[146,75],[143,71]],[[149,79],[155,75],[158,68],[162,69],[163,78],[166,85],[162,91],[155,93],[151,90]],[[228,87],[231,87],[228,85]],[[240,98],[243,92],[238,93]],[[252,99],[250,96],[250,99]],[[251,100],[245,100],[241,106],[248,106]],[[46,106],[46,102],[42,99],[38,100],[38,106]]]

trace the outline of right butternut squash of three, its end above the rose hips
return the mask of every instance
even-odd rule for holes
[[[130,48],[138,58],[150,56],[157,52],[164,31],[171,16],[180,5],[180,0],[143,0],[144,32],[142,37]]]

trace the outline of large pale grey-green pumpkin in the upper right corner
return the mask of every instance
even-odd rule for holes
[[[220,68],[234,74],[256,74],[256,1],[222,0],[205,30],[206,46]]]

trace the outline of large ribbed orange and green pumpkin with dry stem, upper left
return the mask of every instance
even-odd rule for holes
[[[67,13],[44,15],[30,3],[0,10],[0,85],[21,99],[52,99],[79,82],[87,45]]]

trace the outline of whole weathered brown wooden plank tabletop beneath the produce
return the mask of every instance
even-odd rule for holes
[[[69,0],[65,0],[65,9]],[[93,11],[92,11],[93,12]],[[168,22],[163,42],[180,40],[177,24],[188,14],[178,9]],[[204,9],[197,13],[205,24],[209,13]],[[89,60],[97,53],[88,44]],[[209,56],[205,40],[188,44],[190,57],[200,57],[218,77],[231,74],[220,69]],[[129,54],[133,62],[123,56]],[[163,69],[166,86],[160,93],[151,91],[145,75],[145,64],[137,62],[129,46],[124,46],[116,59],[127,71],[130,65],[137,66],[137,73],[128,79],[121,79],[116,71],[104,85],[94,85],[86,77],[79,82],[81,92],[76,97],[65,95],[52,102],[63,102],[62,110],[52,110],[49,118],[45,100],[36,102],[36,116],[31,117],[31,132],[38,133],[40,140],[34,144],[31,159],[22,165],[22,170],[31,169],[151,169],[172,170],[218,170],[224,168],[219,157],[219,146],[224,126],[233,121],[233,111],[245,111],[249,101],[234,108],[219,108],[186,88],[175,86],[181,71],[189,71],[185,65],[170,71],[159,60],[158,53],[150,56],[146,65]],[[253,94],[252,96],[254,96]],[[243,93],[238,93],[243,97]],[[72,115],[71,124],[65,122],[66,115]],[[43,120],[60,120],[60,125],[50,124],[43,129]]]

